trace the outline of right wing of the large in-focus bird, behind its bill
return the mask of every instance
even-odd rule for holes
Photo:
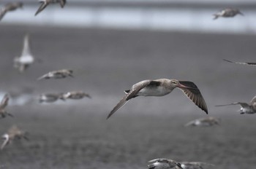
[[[200,90],[197,88],[195,83],[189,82],[189,81],[178,81],[180,84],[183,84],[184,86],[190,87],[190,88],[179,88],[184,92],[185,95],[193,102],[195,105],[197,105],[200,109],[206,112],[208,114],[208,109],[206,106],[206,101],[203,99],[203,95],[200,93]]]

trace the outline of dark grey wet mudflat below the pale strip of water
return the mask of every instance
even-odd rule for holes
[[[26,32],[42,63],[20,74],[12,59],[20,55]],[[255,95],[255,67],[222,59],[255,62],[256,36],[7,25],[0,26],[0,36],[2,92],[30,87],[35,96],[67,90],[92,95],[67,104],[10,106],[15,118],[1,119],[0,132],[17,124],[29,131],[30,141],[14,141],[0,152],[5,168],[147,168],[159,157],[255,168],[255,115],[214,105],[249,102]],[[75,78],[35,80],[59,68],[74,69]],[[206,114],[179,90],[135,98],[105,120],[123,90],[163,77],[195,82],[222,125],[183,127]]]

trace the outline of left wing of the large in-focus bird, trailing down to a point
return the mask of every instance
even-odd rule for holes
[[[122,98],[121,101],[117,103],[117,105],[113,108],[113,110],[110,111],[110,114],[108,114],[107,119],[116,111],[118,111],[118,109],[124,106],[129,101],[129,99],[135,98],[138,92],[144,87],[146,87],[148,84],[150,84],[150,82],[151,80],[143,80],[141,82],[138,82],[137,84],[134,84],[131,90],[126,90],[127,92],[129,91],[129,93],[127,93],[127,95],[125,95],[124,98]]]

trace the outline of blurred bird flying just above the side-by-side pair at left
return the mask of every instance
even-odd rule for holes
[[[47,74],[40,76],[37,80],[41,79],[64,79],[67,76],[73,77],[73,71],[68,69],[61,69],[59,71],[50,71]]]

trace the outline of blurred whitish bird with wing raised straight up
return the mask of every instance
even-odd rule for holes
[[[34,56],[31,54],[31,50],[29,47],[29,34],[26,34],[23,41],[23,50],[20,56],[15,57],[14,60],[14,67],[18,68],[19,71],[25,71],[26,68],[34,63]]]

